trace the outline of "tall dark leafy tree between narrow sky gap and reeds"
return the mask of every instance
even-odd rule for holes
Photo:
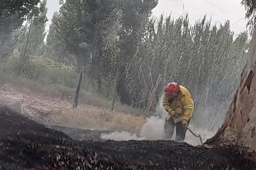
[[[122,54],[127,52],[127,45],[132,45],[130,39],[136,32],[143,32],[156,4],[156,0],[66,0],[61,7],[58,29],[66,50],[76,56],[79,67],[85,66],[100,89],[102,81],[111,84],[115,75],[112,70],[129,60],[130,54]]]

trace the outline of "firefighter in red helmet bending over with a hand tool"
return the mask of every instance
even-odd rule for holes
[[[176,126],[175,141],[183,142],[187,131],[185,125],[189,124],[194,110],[194,102],[190,92],[175,82],[168,83],[162,96],[162,105],[167,111],[164,140],[171,140]],[[179,116],[182,122],[174,113]]]

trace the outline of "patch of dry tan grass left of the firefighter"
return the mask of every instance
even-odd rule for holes
[[[52,111],[51,123],[66,127],[96,130],[140,132],[146,117],[110,112],[106,109],[88,107],[84,109]]]

